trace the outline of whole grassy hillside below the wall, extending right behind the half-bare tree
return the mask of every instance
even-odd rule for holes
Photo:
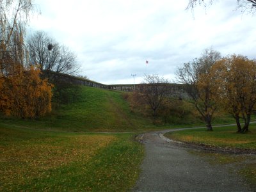
[[[195,109],[189,103],[180,107],[173,101],[169,108],[160,109],[164,115],[152,118],[149,109],[124,99],[124,94],[129,93],[83,86],[75,102],[53,103],[52,113],[47,116],[33,120],[2,117],[1,122],[19,127],[69,132],[140,132],[204,125],[199,118],[195,118]],[[180,111],[184,110],[186,114],[180,117]],[[230,116],[220,115],[213,124],[228,122],[234,120]]]

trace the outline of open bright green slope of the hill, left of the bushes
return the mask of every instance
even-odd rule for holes
[[[75,132],[127,132],[150,126],[147,118],[131,113],[121,92],[83,86],[81,98],[60,105],[51,115],[37,120],[7,118],[4,124]]]

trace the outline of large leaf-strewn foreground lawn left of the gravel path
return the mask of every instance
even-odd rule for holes
[[[0,191],[127,191],[143,159],[132,138],[0,124]]]

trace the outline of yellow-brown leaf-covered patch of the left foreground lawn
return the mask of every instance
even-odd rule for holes
[[[13,134],[0,128],[0,191],[28,184],[35,177],[45,177],[49,170],[74,162],[86,163],[97,152],[116,140],[106,135],[45,135],[29,137],[22,131]],[[46,176],[47,177],[47,176]]]

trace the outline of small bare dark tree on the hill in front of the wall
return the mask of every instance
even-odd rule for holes
[[[156,116],[157,109],[164,103],[164,98],[168,95],[168,80],[154,74],[146,75],[138,90],[143,101],[152,109],[152,115]]]

